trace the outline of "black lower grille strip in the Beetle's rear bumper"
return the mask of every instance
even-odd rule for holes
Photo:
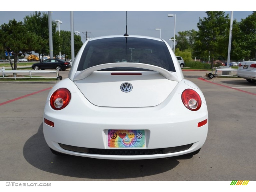
[[[61,148],[74,151],[78,153],[87,153],[87,154],[98,154],[98,155],[156,155],[156,154],[166,154],[166,153],[175,153],[179,151],[188,150],[192,144],[182,145],[177,147],[168,147],[168,148],[158,148],[158,149],[96,149],[96,148],[86,148],[86,147],[76,147],[71,145],[65,145],[59,143]]]

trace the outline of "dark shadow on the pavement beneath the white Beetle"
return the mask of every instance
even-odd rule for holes
[[[42,124],[23,147],[23,155],[32,166],[43,171],[77,178],[122,179],[136,178],[167,172],[179,164],[178,156],[146,160],[105,160],[79,156],[56,156],[51,153],[43,135]]]

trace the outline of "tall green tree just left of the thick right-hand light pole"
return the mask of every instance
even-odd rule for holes
[[[200,57],[210,55],[213,66],[214,59],[223,56],[223,39],[227,36],[229,30],[229,16],[225,16],[223,11],[206,11],[207,17],[199,18],[197,24],[198,32],[195,42],[195,49]]]

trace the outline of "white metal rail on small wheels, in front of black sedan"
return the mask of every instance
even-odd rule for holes
[[[2,77],[3,79],[31,79],[31,78],[35,78],[35,79],[52,79],[54,77],[32,77],[32,73],[56,73],[56,78],[57,80],[61,80],[62,77],[59,76],[59,71],[47,71],[47,70],[4,70],[4,69],[0,69],[0,74],[2,73]],[[16,77],[16,75],[14,75],[14,77],[6,77],[6,73],[27,73],[26,75],[29,75],[29,77]]]

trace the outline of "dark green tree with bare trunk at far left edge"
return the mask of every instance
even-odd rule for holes
[[[33,33],[28,33],[24,24],[14,19],[10,20],[8,24],[1,25],[0,42],[0,47],[8,53],[12,70],[17,70],[18,56],[25,55],[33,50],[36,36]],[[14,66],[10,59],[10,52],[14,56]]]

